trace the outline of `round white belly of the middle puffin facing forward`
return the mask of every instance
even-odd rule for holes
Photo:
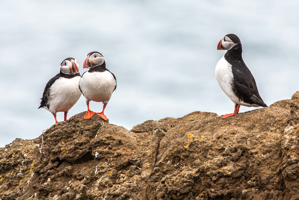
[[[85,72],[79,82],[86,101],[107,104],[115,89],[116,81],[109,71]]]

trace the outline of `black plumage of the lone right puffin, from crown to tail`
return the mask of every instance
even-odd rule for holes
[[[234,93],[245,103],[267,107],[260,97],[253,75],[242,59],[242,45],[239,38],[234,34],[228,34],[227,36],[234,43],[238,43],[224,55],[225,60],[232,65],[231,70],[234,76],[232,86]]]

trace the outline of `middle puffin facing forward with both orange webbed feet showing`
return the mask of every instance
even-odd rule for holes
[[[87,54],[83,63],[83,68],[89,68],[82,74],[79,81],[79,88],[86,99],[87,113],[84,119],[90,119],[94,114],[99,115],[107,121],[104,110],[111,98],[113,91],[116,89],[116,78],[107,68],[104,57],[97,51]],[[89,101],[103,102],[103,111],[95,113],[89,110]]]

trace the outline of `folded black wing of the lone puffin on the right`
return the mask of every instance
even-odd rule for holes
[[[236,60],[231,63],[234,75],[234,92],[245,103],[267,107],[257,90],[257,84],[244,61]]]

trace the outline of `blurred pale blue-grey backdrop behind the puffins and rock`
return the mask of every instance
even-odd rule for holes
[[[299,1],[1,1],[0,147],[54,124],[37,109],[67,57],[103,54],[117,78],[105,114],[130,130],[148,119],[193,111],[232,113],[215,67],[219,40],[236,34],[243,60],[269,106],[298,90]],[[100,112],[102,103],[91,102]],[[242,107],[240,112],[253,108]],[[86,111],[83,96],[68,118]],[[57,114],[58,121],[63,113]]]

